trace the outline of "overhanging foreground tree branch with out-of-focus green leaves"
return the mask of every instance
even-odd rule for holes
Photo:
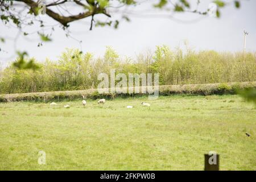
[[[46,14],[50,18],[54,19],[63,30],[67,30],[71,26],[72,22],[82,20],[85,18],[90,18],[90,30],[93,26],[111,26],[118,28],[120,19],[113,19],[114,14],[113,9],[124,10],[123,7],[126,6],[136,6],[145,1],[139,0],[0,0],[0,18],[4,24],[15,24],[20,31],[26,26],[32,26],[35,22],[39,22],[40,27],[44,27],[46,22],[38,18],[40,14]],[[168,14],[171,12],[183,13],[190,12],[200,15],[207,15],[210,9],[204,11],[199,11],[197,9],[200,4],[200,0],[194,0],[197,7],[192,8],[190,1],[187,0],[155,0],[152,2],[153,9],[166,10]],[[220,9],[226,6],[228,3],[220,0],[214,0],[214,5],[216,5],[217,17],[220,17]],[[240,2],[233,1],[234,5],[239,8]],[[73,9],[73,11],[69,11]],[[167,14],[167,15],[168,15]],[[104,15],[109,19],[102,22],[100,19],[96,20],[96,15]],[[122,15],[121,19],[129,21],[129,12]],[[51,34],[44,35],[43,31],[39,31],[38,34],[42,42],[51,41]],[[52,27],[54,31],[54,27]],[[69,33],[67,33],[68,36]],[[24,36],[27,36],[27,32],[23,32]],[[0,42],[4,43],[5,39],[0,37]],[[39,43],[38,46],[42,46]],[[1,48],[0,48],[1,51]],[[16,67],[18,68],[35,68],[33,62],[30,60],[30,64],[26,65],[24,63],[24,56],[26,52],[19,53],[19,61],[16,61]],[[32,63],[32,65],[31,65]],[[21,66],[22,65],[22,66]]]

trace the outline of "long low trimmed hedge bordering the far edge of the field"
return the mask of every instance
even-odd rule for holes
[[[229,82],[218,84],[190,84],[190,85],[161,85],[159,86],[160,96],[170,96],[171,94],[236,94],[237,90],[246,88],[256,88],[256,81],[252,82]],[[75,90],[75,91],[56,91],[56,92],[37,92],[37,93],[20,93],[20,94],[2,94],[0,102],[11,101],[61,101],[81,99],[81,95],[87,99],[96,100],[98,98],[113,99],[115,97],[134,97],[145,94],[123,94],[123,93],[104,93],[99,94],[97,89]]]

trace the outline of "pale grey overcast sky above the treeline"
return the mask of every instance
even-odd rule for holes
[[[210,1],[202,1],[201,10],[208,8]],[[47,57],[57,60],[65,48],[81,48],[83,52],[92,52],[96,56],[104,54],[106,46],[112,46],[120,55],[135,56],[147,49],[154,50],[155,46],[168,45],[171,48],[183,45],[186,40],[196,50],[213,49],[216,51],[242,51],[243,30],[249,32],[247,36],[247,51],[256,51],[256,1],[242,1],[241,8],[236,9],[230,5],[221,10],[221,18],[194,15],[192,13],[175,14],[174,18],[167,18],[166,12],[150,11],[152,2],[144,2],[141,5],[130,7],[129,17],[131,22],[121,22],[118,29],[110,27],[95,27],[89,31],[89,20],[71,23],[73,38],[67,38],[61,28],[55,27],[52,42],[44,43],[37,47],[40,42],[37,34],[28,36],[30,40],[22,36],[16,41],[16,49],[27,51],[30,56],[42,61]],[[150,15],[149,15],[150,14]],[[114,18],[119,16],[114,15]],[[43,17],[49,24],[56,22],[46,16]],[[103,17],[104,18],[104,17]],[[30,27],[26,32],[31,33],[38,27]],[[6,39],[1,44],[1,66],[8,64],[10,56],[14,54],[14,41],[17,30],[6,27],[0,23],[1,36]]]

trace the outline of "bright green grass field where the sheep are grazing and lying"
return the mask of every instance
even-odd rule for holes
[[[231,95],[0,103],[0,169],[203,170],[216,151],[221,170],[256,170],[255,111]]]

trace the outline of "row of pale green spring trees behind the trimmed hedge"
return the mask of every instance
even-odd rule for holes
[[[78,49],[67,49],[58,61],[46,60],[40,68],[0,71],[0,93],[48,92],[97,88],[99,73],[159,73],[160,85],[209,84],[256,81],[255,53],[192,51],[157,46],[154,53],[136,59],[120,57],[111,47],[93,57]]]

